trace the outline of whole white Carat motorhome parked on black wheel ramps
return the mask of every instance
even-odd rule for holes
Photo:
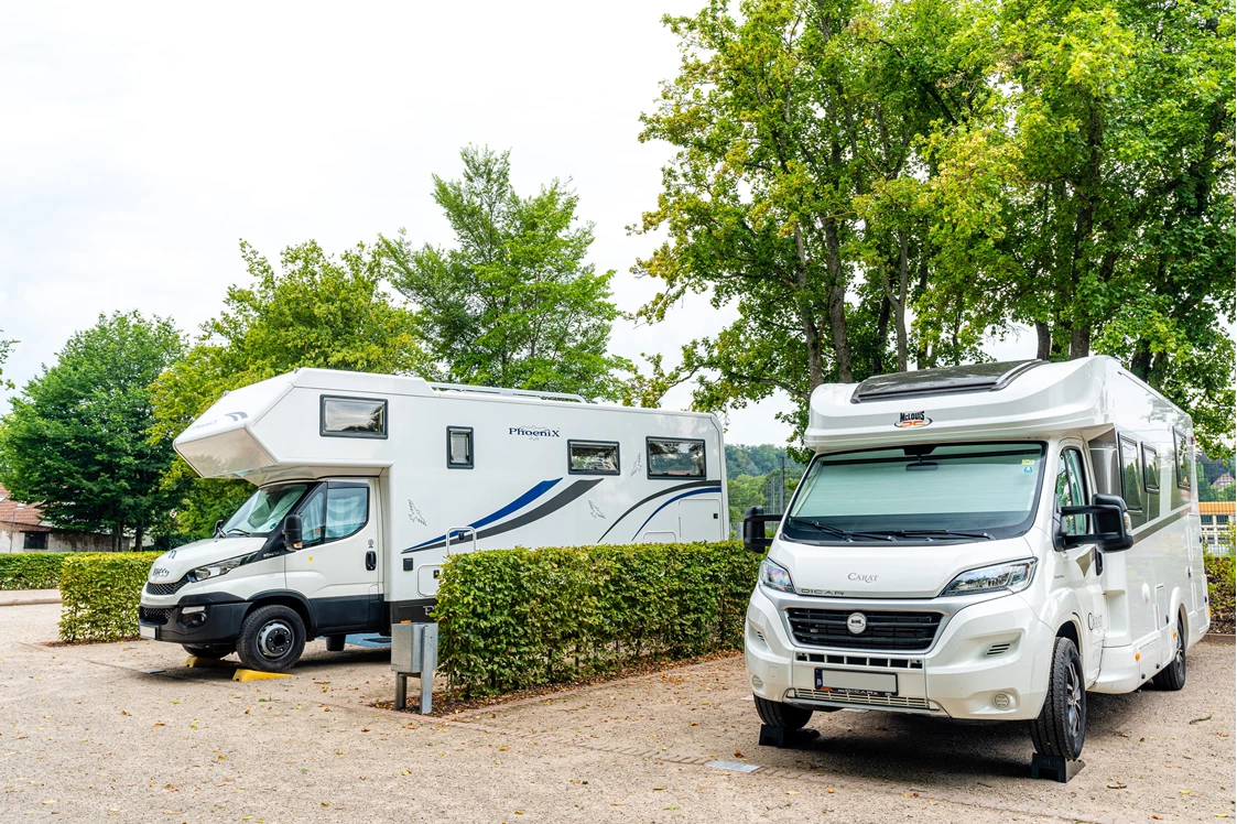
[[[1116,360],[820,386],[807,445],[784,516],[743,525],[768,547],[745,632],[767,725],[1021,720],[1076,760],[1089,690],[1185,683],[1211,620],[1191,422]]]

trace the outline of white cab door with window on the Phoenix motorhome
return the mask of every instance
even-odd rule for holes
[[[309,600],[320,635],[369,629],[382,606],[372,483],[320,483],[299,511],[303,548],[287,556],[288,589]]]

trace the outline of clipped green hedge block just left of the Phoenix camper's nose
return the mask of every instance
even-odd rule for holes
[[[137,635],[137,605],[157,552],[71,554],[61,568],[61,641]]]

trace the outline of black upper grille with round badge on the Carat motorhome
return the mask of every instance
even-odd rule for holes
[[[847,629],[856,611],[867,620],[860,633]],[[794,640],[810,647],[840,650],[887,650],[923,652],[931,646],[940,626],[940,612],[863,612],[862,610],[818,610],[792,607],[787,611]]]

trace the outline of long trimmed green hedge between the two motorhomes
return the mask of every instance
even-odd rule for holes
[[[740,648],[760,560],[738,542],[452,556],[439,669],[452,689],[489,695]]]

